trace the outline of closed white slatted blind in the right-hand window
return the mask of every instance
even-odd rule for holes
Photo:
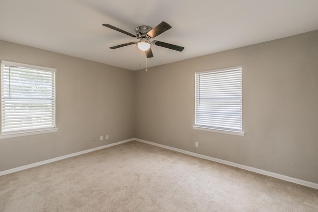
[[[195,73],[195,126],[242,130],[242,68]]]

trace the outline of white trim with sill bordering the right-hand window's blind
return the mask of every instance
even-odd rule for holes
[[[231,130],[231,129],[222,129],[222,128],[213,128],[213,127],[208,127],[208,126],[201,126],[201,125],[196,125],[197,122],[197,96],[196,96],[196,92],[197,92],[197,74],[200,73],[212,73],[212,72],[217,72],[217,71],[229,71],[232,69],[241,69],[242,71],[242,67],[241,66],[237,66],[237,67],[229,67],[229,68],[223,68],[223,69],[216,69],[216,70],[209,70],[209,71],[197,71],[195,72],[195,77],[194,77],[194,82],[195,82],[195,86],[194,86],[194,92],[195,92],[195,99],[194,99],[194,113],[195,113],[195,117],[194,117],[194,122],[195,124],[192,126],[194,130],[202,130],[202,131],[209,131],[209,132],[216,132],[216,133],[224,133],[224,134],[231,134],[231,135],[238,135],[238,136],[244,136],[244,132],[242,131],[242,111],[241,111],[241,129],[240,130]],[[242,77],[242,73],[240,75],[240,77]],[[242,78],[241,78],[242,81]],[[241,90],[242,90],[242,85],[241,85]],[[242,91],[240,93],[241,96],[241,100],[242,100]],[[242,105],[241,105],[241,110],[242,110]]]

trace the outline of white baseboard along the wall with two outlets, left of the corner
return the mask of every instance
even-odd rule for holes
[[[5,174],[10,174],[10,173],[13,173],[13,172],[17,172],[17,171],[21,171],[21,170],[24,170],[24,169],[32,168],[32,167],[35,167],[35,166],[40,166],[40,165],[44,165],[44,164],[47,164],[47,163],[52,163],[52,162],[55,162],[55,161],[58,161],[58,160],[63,160],[63,159],[69,158],[69,157],[74,157],[74,156],[77,156],[77,155],[80,155],[80,154],[85,154],[85,153],[88,153],[88,152],[91,152],[91,151],[96,151],[96,150],[99,150],[99,149],[107,148],[107,147],[110,147],[110,146],[114,146],[114,145],[118,145],[118,144],[121,144],[121,143],[130,142],[130,141],[134,141],[134,139],[118,141],[118,142],[110,143],[110,144],[107,144],[107,145],[98,146],[98,147],[95,147],[95,148],[91,148],[91,149],[75,152],[75,153],[72,153],[72,154],[67,154],[67,155],[64,155],[64,156],[55,157],[55,158],[52,158],[52,159],[43,160],[43,161],[40,161],[40,162],[31,163],[31,164],[28,164],[28,165],[24,165],[24,166],[20,166],[20,167],[8,169],[8,170],[0,171],[0,176],[5,175]]]

